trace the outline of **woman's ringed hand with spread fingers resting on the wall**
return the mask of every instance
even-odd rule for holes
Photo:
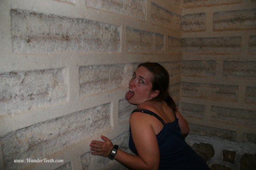
[[[91,152],[93,155],[100,155],[100,156],[108,156],[110,154],[111,149],[114,147],[111,140],[109,140],[105,136],[101,136],[101,139],[105,142],[101,141],[92,141],[90,143],[90,150],[94,151]]]

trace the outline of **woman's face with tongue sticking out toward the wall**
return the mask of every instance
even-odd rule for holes
[[[134,71],[125,95],[129,103],[139,106],[151,99],[152,78],[153,74],[143,66]]]

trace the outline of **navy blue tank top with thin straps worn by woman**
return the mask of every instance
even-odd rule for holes
[[[156,135],[160,150],[159,170],[209,170],[208,165],[195,151],[186,143],[180,132],[178,119],[165,123],[156,113],[146,109],[135,109],[134,112],[142,112],[157,117],[163,123],[163,129]],[[175,112],[174,112],[175,113]],[[131,135],[130,127],[130,150],[138,155]]]

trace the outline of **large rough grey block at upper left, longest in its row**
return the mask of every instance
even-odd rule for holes
[[[16,9],[11,16],[15,53],[120,50],[119,26]]]

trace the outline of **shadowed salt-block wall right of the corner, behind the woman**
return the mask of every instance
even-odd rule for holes
[[[256,142],[255,7],[184,0],[180,109],[191,134]]]

